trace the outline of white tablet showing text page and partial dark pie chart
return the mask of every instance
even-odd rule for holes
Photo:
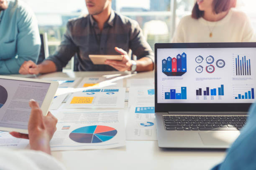
[[[59,83],[47,80],[0,76],[0,130],[28,134],[31,99],[47,115]]]

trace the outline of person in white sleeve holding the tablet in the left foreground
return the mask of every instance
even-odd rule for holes
[[[57,119],[50,112],[43,116],[35,100],[29,102],[31,115],[28,134],[11,132],[16,138],[29,139],[31,150],[0,149],[0,170],[65,170],[51,156],[50,140],[56,131]]]

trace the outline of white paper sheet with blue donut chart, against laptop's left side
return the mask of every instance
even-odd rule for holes
[[[126,140],[157,140],[155,107],[132,107],[126,125]]]

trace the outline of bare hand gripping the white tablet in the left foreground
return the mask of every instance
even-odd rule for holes
[[[29,139],[31,149],[51,154],[50,140],[56,131],[57,119],[51,112],[43,116],[42,110],[35,100],[30,100],[31,115],[28,121],[28,135],[10,132],[16,138]]]

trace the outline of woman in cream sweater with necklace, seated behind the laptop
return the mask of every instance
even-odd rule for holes
[[[253,42],[245,13],[232,9],[236,0],[197,0],[192,15],[182,18],[173,42]]]

